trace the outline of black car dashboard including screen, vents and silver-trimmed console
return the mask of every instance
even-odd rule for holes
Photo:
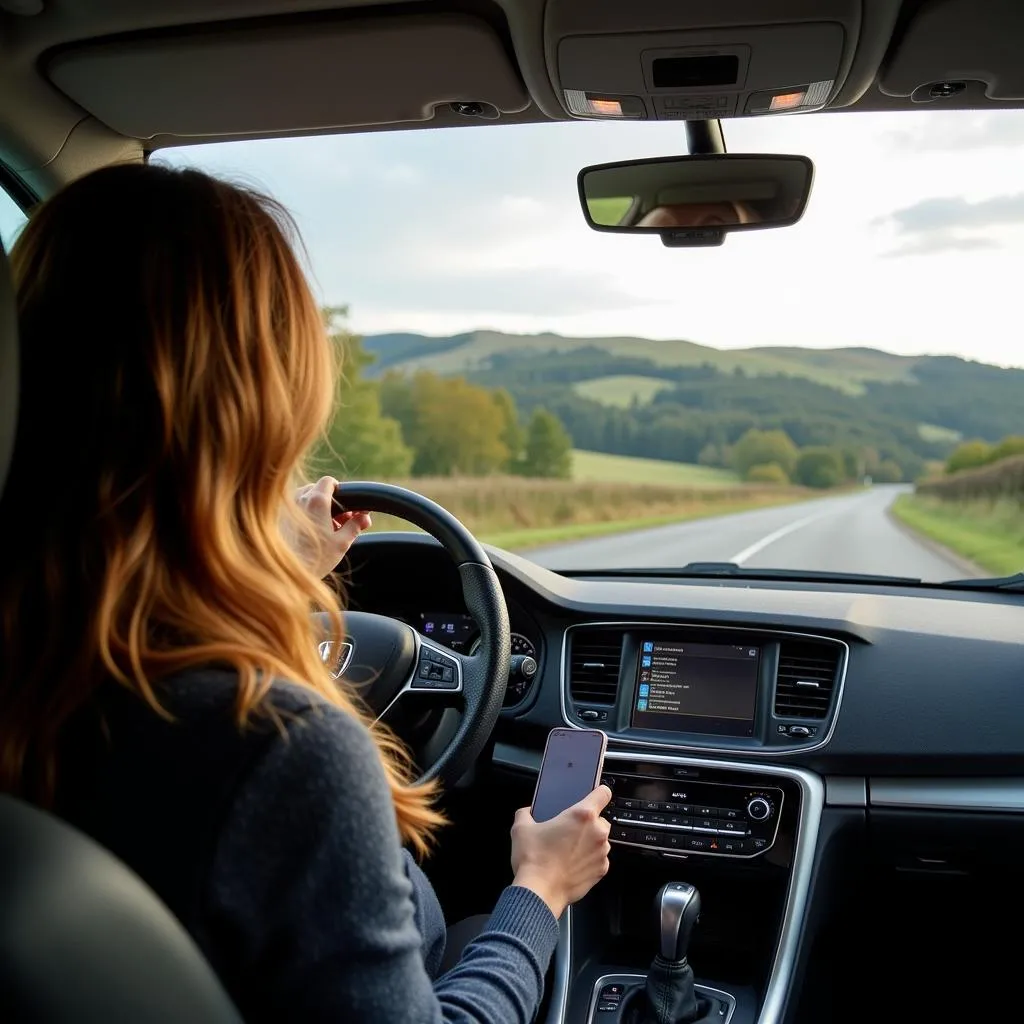
[[[837,879],[873,865],[898,896],[907,880],[1016,870],[1020,595],[568,575],[488,554],[513,652],[536,672],[510,680],[486,769],[528,799],[551,728],[608,736],[612,867],[561,923],[548,1021],[626,1019],[602,1001],[618,984],[605,979],[642,978],[649,891],[668,879],[705,895],[694,963],[732,1000],[729,1024],[778,1024],[829,1019],[810,993],[849,888]],[[346,581],[350,606],[472,649],[458,572],[431,538],[367,536]]]

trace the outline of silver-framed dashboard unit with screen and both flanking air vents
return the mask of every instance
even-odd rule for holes
[[[666,625],[566,630],[562,711],[626,746],[777,754],[824,743],[849,649],[833,637]]]

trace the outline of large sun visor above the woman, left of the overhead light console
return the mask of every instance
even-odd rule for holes
[[[502,40],[469,15],[231,27],[92,41],[45,62],[115,131],[224,137],[428,121],[442,104],[492,118],[529,96]]]

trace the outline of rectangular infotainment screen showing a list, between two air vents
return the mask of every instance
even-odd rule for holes
[[[634,728],[753,735],[760,660],[758,647],[641,640]]]

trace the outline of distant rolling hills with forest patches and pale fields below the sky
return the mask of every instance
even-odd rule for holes
[[[558,416],[578,449],[730,465],[751,428],[784,430],[914,479],[962,438],[1024,433],[1024,370],[870,348],[724,351],[691,341],[476,331],[371,336],[369,373],[427,370]]]

